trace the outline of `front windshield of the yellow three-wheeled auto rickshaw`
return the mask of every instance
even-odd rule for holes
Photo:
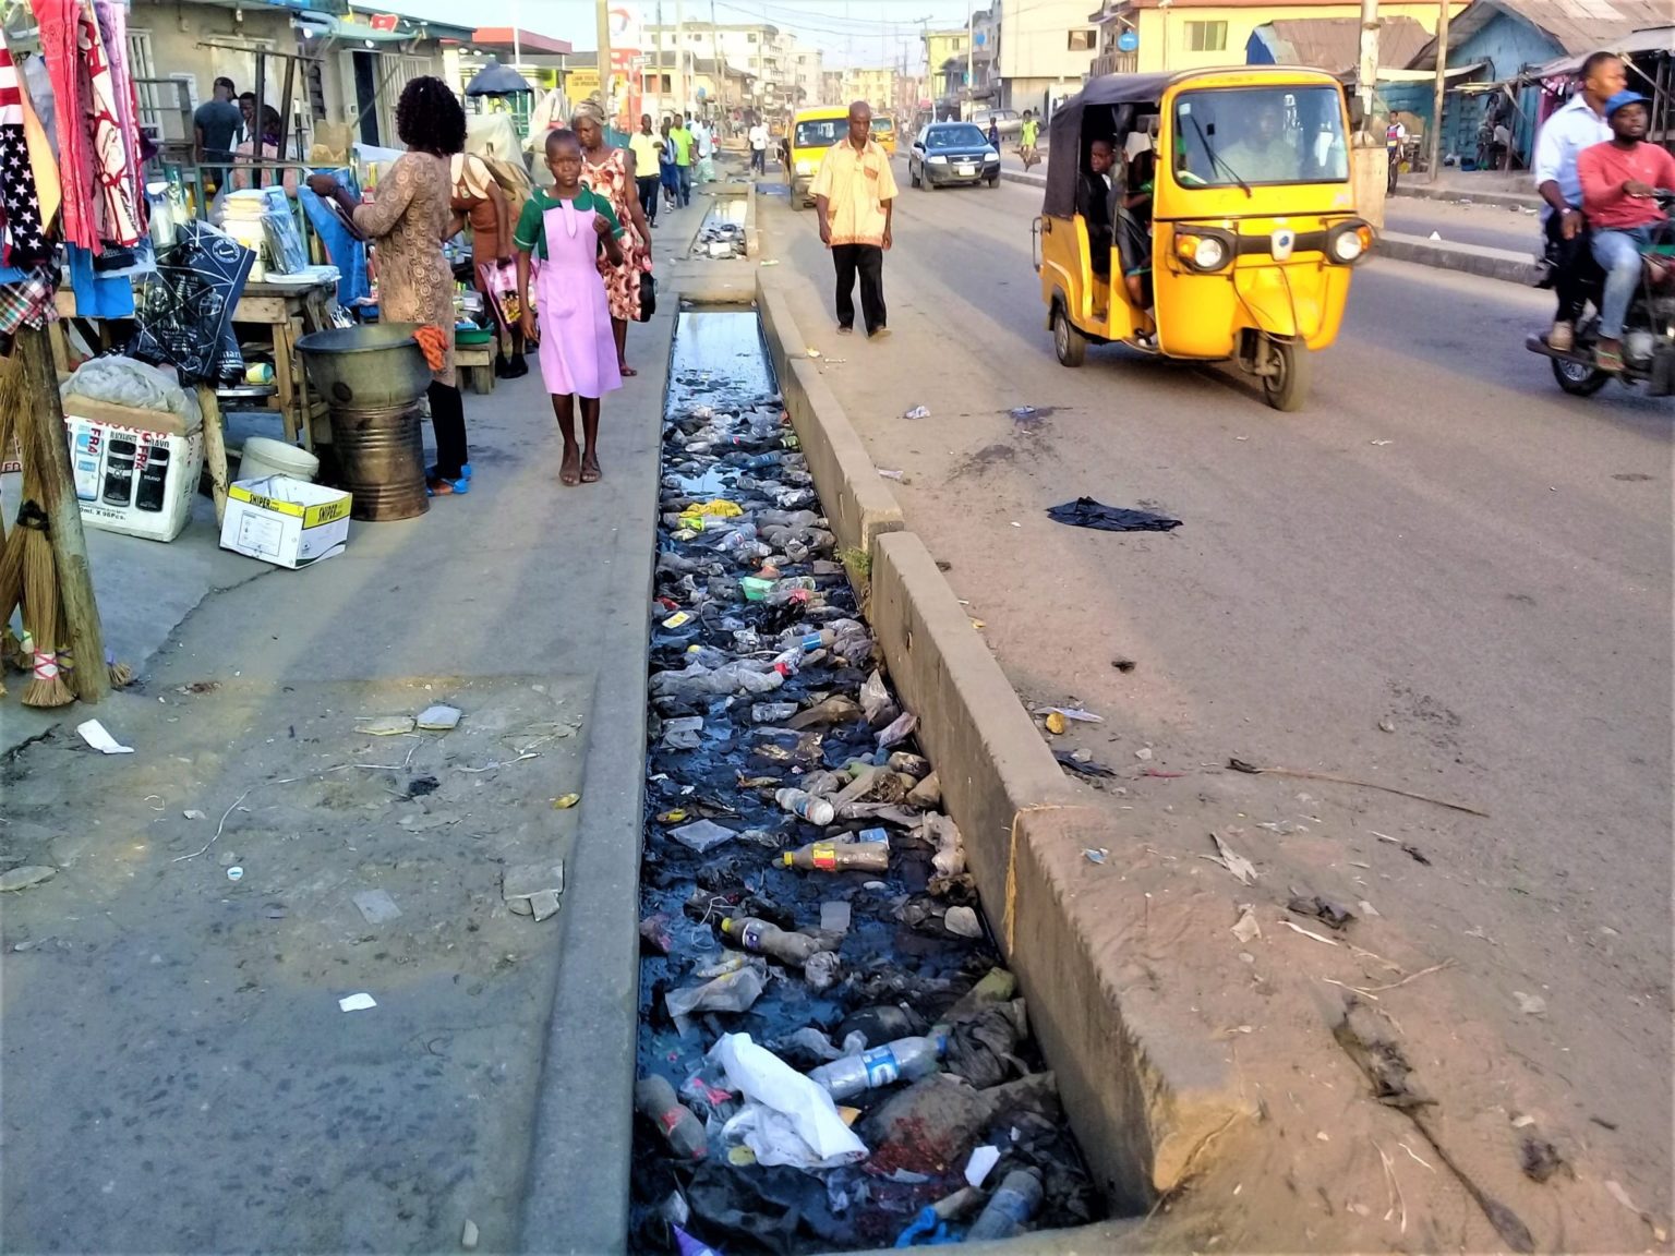
[[[1186,189],[1345,183],[1343,97],[1325,85],[1181,92],[1171,164]]]

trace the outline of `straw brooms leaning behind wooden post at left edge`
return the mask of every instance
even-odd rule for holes
[[[13,672],[30,673],[23,687],[25,707],[67,707],[79,697],[75,658],[69,648],[64,598],[59,589],[57,559],[52,551],[47,497],[42,487],[47,459],[35,445],[40,424],[22,419],[23,372],[12,362],[0,377],[0,462],[15,447],[23,464],[23,494],[5,536],[0,538],[0,658]],[[49,385],[50,387],[50,385]],[[57,407],[50,407],[57,410]],[[22,419],[22,420],[20,420]],[[12,613],[23,610],[23,638],[12,631]],[[114,660],[112,685],[127,685],[134,673]],[[5,685],[0,683],[0,695]]]

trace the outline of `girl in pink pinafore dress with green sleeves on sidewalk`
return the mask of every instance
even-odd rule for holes
[[[546,167],[553,172],[551,193],[534,191],[513,233],[519,322],[524,338],[539,343],[541,378],[553,395],[553,414],[564,437],[558,479],[566,486],[593,484],[600,477],[600,397],[623,385],[598,256],[603,251],[613,265],[621,265],[623,228],[610,201],[581,186],[581,142],[575,131],[548,132]],[[529,305],[531,270],[534,308]],[[585,450],[576,445],[576,397],[581,399]]]

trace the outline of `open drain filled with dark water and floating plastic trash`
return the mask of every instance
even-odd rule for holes
[[[755,313],[683,308],[650,660],[636,1253],[1102,1216],[824,524]]]

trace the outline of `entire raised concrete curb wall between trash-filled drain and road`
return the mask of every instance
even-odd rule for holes
[[[839,541],[871,556],[873,631],[896,692],[920,717],[985,913],[1062,1078],[1065,1112],[1111,1201],[1144,1209],[1183,1181],[1211,1134],[1251,1107],[1203,1027],[1174,1023],[1151,996],[1116,988],[1097,941],[1102,923],[1111,936],[1109,921],[1075,904],[1072,876],[1085,846],[1119,847],[1122,834],[1075,806],[1000,665],[925,543],[903,531],[901,509],[836,397],[801,357],[806,342],[784,296],[760,281],[759,295],[809,471]]]

